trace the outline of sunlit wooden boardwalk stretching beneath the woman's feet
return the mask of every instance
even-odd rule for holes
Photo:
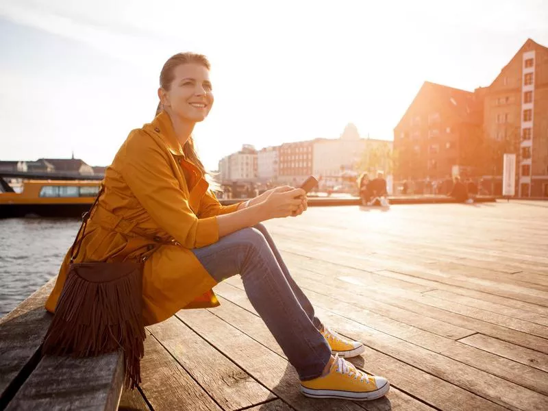
[[[221,306],[148,327],[138,410],[548,410],[548,202],[311,208],[266,223],[324,323],[388,377],[371,402],[308,399],[239,276]]]

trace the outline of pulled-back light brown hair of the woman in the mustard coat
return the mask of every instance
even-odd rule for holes
[[[177,53],[175,55],[172,55],[164,63],[162,71],[160,72],[160,87],[162,87],[166,91],[169,91],[169,89],[171,88],[171,83],[173,82],[173,78],[175,77],[175,69],[177,69],[177,67],[181,66],[182,64],[188,63],[201,64],[208,70],[210,70],[211,68],[208,58],[206,58],[206,56],[203,54],[190,52]],[[162,102],[158,103],[158,108],[156,108],[156,115],[158,116],[161,111]],[[219,190],[221,188],[219,184],[214,180],[212,173],[206,171],[206,167],[204,167],[202,162],[200,161],[192,136],[189,136],[188,140],[186,140],[186,143],[183,147],[183,153],[187,160],[195,164],[200,169],[201,173],[204,175],[204,177],[206,177],[206,180],[208,180],[208,183],[213,190]]]

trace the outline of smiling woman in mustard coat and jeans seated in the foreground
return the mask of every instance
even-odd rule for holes
[[[343,357],[362,343],[323,327],[291,278],[261,221],[298,216],[306,193],[279,187],[245,203],[221,206],[208,190],[192,130],[213,104],[210,64],[203,55],[173,55],[160,74],[160,105],[152,123],[133,130],[105,173],[105,191],[88,221],[77,261],[136,258],[151,238],[175,240],[145,264],[143,318],[164,321],[182,308],[219,306],[212,288],[240,273],[249,300],[295,366],[310,397],[374,399],[386,394],[382,377],[358,371]],[[53,312],[64,260],[46,308]]]

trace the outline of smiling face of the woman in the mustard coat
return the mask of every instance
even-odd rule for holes
[[[162,105],[182,119],[195,123],[208,116],[213,105],[210,72],[201,64],[177,66],[169,91],[158,91]]]

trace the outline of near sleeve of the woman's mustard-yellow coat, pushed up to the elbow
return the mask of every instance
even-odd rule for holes
[[[159,227],[188,249],[219,240],[216,217],[198,219],[192,212],[166,151],[149,134],[135,130],[122,150],[122,177]]]

